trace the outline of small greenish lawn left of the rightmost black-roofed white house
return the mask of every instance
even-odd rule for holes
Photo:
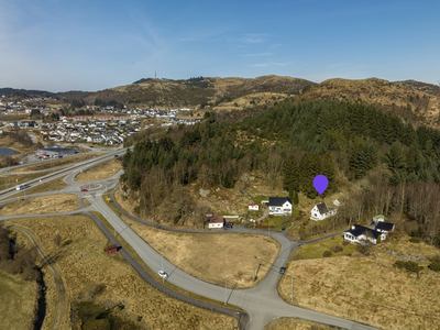
[[[352,254],[354,251],[358,250],[356,244],[349,244],[349,245],[343,246],[342,242],[343,242],[343,235],[340,234],[334,238],[319,241],[319,242],[316,242],[312,244],[302,245],[298,250],[295,251],[294,260],[320,258],[320,257],[322,257],[322,254],[324,251],[330,250],[332,246],[337,246],[337,245],[342,246],[343,251],[333,253],[332,257]]]

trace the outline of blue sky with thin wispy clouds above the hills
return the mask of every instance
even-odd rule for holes
[[[140,78],[440,80],[440,1],[0,0],[0,87]]]

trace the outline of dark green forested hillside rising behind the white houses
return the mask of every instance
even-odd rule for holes
[[[330,179],[326,194],[338,189],[337,177],[353,184],[364,179],[363,190],[353,190],[341,208],[340,223],[399,211],[417,220],[433,243],[440,228],[439,165],[435,129],[415,128],[362,102],[282,102],[257,113],[207,112],[199,125],[141,141],[123,160],[123,180],[138,194],[140,212],[154,215],[169,204],[177,223],[197,208],[184,193],[194,182],[245,190],[243,175],[257,172],[286,195],[316,198],[317,174]]]

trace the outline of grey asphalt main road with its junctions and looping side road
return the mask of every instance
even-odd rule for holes
[[[62,169],[55,174],[45,176],[44,179],[42,178],[42,183],[56,177],[65,176],[66,177],[65,182],[70,184],[72,186],[63,189],[63,191],[57,191],[55,194],[66,194],[66,193],[78,194],[78,187],[85,184],[84,183],[79,184],[74,180],[76,174],[86,168],[96,166],[101,162],[106,162],[110,158],[113,158],[114,154],[122,154],[122,153],[123,151],[119,150],[116,152],[110,152],[106,156],[101,156],[92,161],[89,161],[87,162],[87,164],[73,165],[69,168]],[[233,230],[224,231],[226,233],[253,232],[263,235],[271,235],[271,238],[277,240],[280,243],[282,248],[279,254],[277,255],[270,272],[253,288],[233,289],[231,287],[228,287],[226,289],[226,287],[209,284],[207,282],[200,280],[185,273],[184,271],[182,271],[167,260],[162,258],[162,256],[153,248],[151,248],[142,238],[140,238],[130,227],[128,227],[125,222],[123,222],[102,199],[101,196],[102,187],[107,186],[107,189],[113,188],[118,184],[119,175],[121,175],[121,173],[122,172],[118,173],[110,179],[92,183],[94,186],[96,185],[97,188],[91,189],[90,191],[87,191],[86,194],[82,195],[90,201],[91,205],[86,209],[67,213],[78,213],[81,211],[87,212],[91,210],[100,212],[108,220],[108,222],[114,228],[114,230],[118,232],[118,235],[122,237],[131,245],[131,248],[140,255],[140,257],[154,273],[157,274],[157,272],[162,268],[162,262],[163,262],[164,271],[167,272],[169,275],[167,279],[168,283],[177,287],[180,287],[187,292],[194,293],[196,295],[218,300],[221,302],[227,301],[230,305],[234,305],[244,309],[249,314],[249,322],[245,327],[245,329],[248,330],[261,330],[265,327],[265,324],[271,322],[273,319],[280,317],[294,317],[304,320],[310,320],[314,322],[328,324],[339,329],[353,329],[353,330],[376,329],[373,327],[356,323],[342,318],[299,308],[287,304],[279,297],[277,293],[277,287],[280,276],[283,276],[278,272],[279,267],[285,265],[292,251],[296,246],[298,246],[298,243],[288,239],[284,232],[267,233],[266,231],[251,230],[243,226],[235,226]],[[35,180],[37,182],[38,179]],[[16,194],[16,190],[14,189],[13,193]],[[9,193],[6,194],[4,190],[0,191],[1,198],[7,198],[8,194]],[[34,196],[42,196],[42,195],[47,195],[47,193],[35,194]],[[40,217],[48,215],[41,215]],[[20,217],[19,215],[12,217],[1,217],[0,221],[19,217]],[[210,233],[210,232],[205,232],[205,233]],[[227,275],[228,274],[224,274],[224,277]]]

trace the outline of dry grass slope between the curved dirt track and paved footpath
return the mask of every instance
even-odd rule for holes
[[[46,253],[56,258],[70,299],[88,298],[107,307],[124,301],[125,308],[118,315],[146,329],[220,330],[232,324],[228,316],[186,305],[153,289],[127,262],[105,253],[107,239],[86,217],[48,217],[8,222],[29,229]],[[54,242],[57,234],[62,237],[61,248]],[[96,296],[91,295],[94,285],[103,286]],[[136,321],[139,316],[142,321]],[[66,329],[70,328],[68,322],[67,312]]]

